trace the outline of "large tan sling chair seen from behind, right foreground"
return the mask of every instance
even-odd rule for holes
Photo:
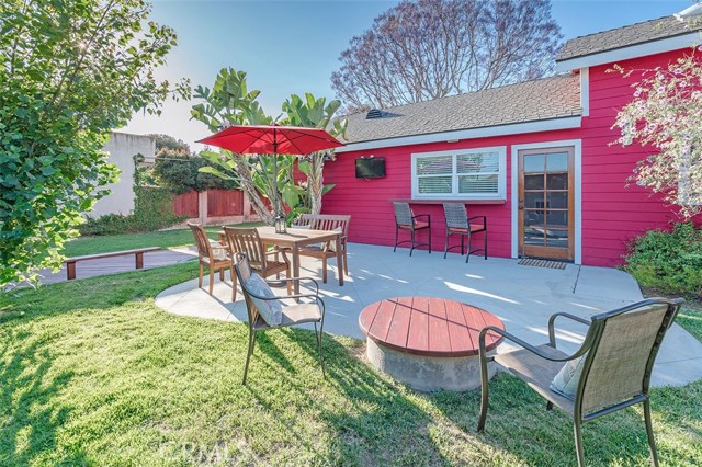
[[[498,328],[483,329],[479,334],[483,394],[478,431],[485,429],[488,410],[487,364],[495,361],[545,398],[547,410],[556,406],[573,418],[576,454],[580,467],[585,466],[582,423],[642,402],[650,457],[654,466],[657,466],[658,454],[648,399],[650,373],[660,343],[683,301],[682,298],[652,298],[595,315],[590,321],[558,312],[548,319],[550,342],[539,346]],[[554,322],[557,317],[589,326],[582,345],[571,355],[556,349]],[[485,348],[487,332],[501,334],[523,349],[488,356]],[[577,379],[573,381],[576,385],[573,398],[550,388],[565,362],[573,362],[571,365],[577,364],[577,367],[581,368],[579,376],[577,371],[574,375]]]

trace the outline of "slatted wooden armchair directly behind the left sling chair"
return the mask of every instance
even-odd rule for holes
[[[258,230],[254,228],[225,227],[225,238],[231,253],[244,253],[249,259],[250,266],[263,277],[275,275],[280,277],[280,273],[285,273],[285,283],[287,284],[287,295],[292,294],[292,283],[290,273],[290,261],[285,252],[282,250],[267,251],[261,242]],[[283,255],[283,261],[279,261],[279,254]],[[269,258],[274,255],[273,259]],[[231,301],[237,299],[237,280],[231,280]]]

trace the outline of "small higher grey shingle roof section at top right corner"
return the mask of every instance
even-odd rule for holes
[[[690,27],[689,23],[678,21],[675,16],[631,24],[570,39],[561,49],[556,61],[689,34],[695,29],[699,30],[699,26]]]

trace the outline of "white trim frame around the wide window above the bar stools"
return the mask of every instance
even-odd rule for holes
[[[456,159],[455,156],[466,153],[480,153],[480,152],[497,152],[498,153],[498,176],[497,176],[497,193],[474,195],[467,193],[457,193],[457,174],[455,173]],[[445,194],[423,194],[419,193],[419,185],[417,183],[417,159],[426,157],[441,157],[441,156],[454,156],[453,158],[453,193]],[[411,194],[412,200],[507,200],[507,146],[490,146],[485,148],[468,148],[468,149],[451,149],[446,151],[433,151],[433,152],[415,152],[411,157]]]

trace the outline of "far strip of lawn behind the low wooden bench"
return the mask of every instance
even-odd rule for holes
[[[260,223],[238,224],[237,227],[260,226]],[[222,227],[206,227],[213,240]],[[194,244],[190,229],[162,230],[146,234],[125,234],[110,236],[81,237],[66,243],[64,254],[80,257],[83,254],[107,253],[111,251],[132,250],[135,248],[161,247],[174,248]]]

